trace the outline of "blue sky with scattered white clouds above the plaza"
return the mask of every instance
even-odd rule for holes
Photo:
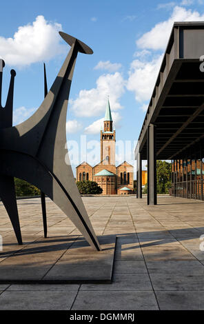
[[[3,103],[10,70],[14,87],[14,125],[30,117],[43,101],[43,62],[48,89],[70,47],[59,31],[90,46],[78,54],[67,115],[67,147],[76,165],[100,160],[100,130],[109,96],[116,129],[116,165],[134,163],[134,148],[174,21],[204,21],[203,0],[3,1],[0,57]],[[146,162],[143,166],[145,168]]]

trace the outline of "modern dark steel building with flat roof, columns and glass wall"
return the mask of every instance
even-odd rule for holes
[[[135,149],[137,197],[147,160],[147,204],[156,205],[156,159],[172,160],[172,194],[203,199],[204,22],[174,23]]]

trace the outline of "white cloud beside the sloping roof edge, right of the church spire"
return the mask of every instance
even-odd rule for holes
[[[127,88],[134,92],[136,101],[150,100],[162,58],[163,54],[153,57],[152,61],[132,61]]]

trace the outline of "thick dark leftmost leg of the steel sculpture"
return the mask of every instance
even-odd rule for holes
[[[21,237],[21,228],[19,223],[19,213],[17,209],[17,199],[14,188],[14,178],[0,174],[0,196],[3,205],[8,212],[8,216],[12,223],[14,233],[16,234],[19,245],[23,244]]]

